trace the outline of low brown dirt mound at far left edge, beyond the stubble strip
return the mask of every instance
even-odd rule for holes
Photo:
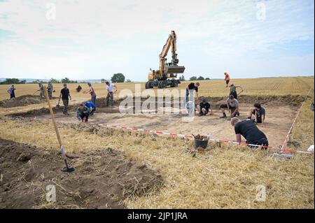
[[[39,99],[39,96],[27,94],[27,95],[18,96],[15,99],[0,101],[0,107],[13,108],[13,107],[18,107],[18,106],[28,106],[34,103],[42,103],[42,102],[43,101]]]

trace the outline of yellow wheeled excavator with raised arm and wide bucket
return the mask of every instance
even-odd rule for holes
[[[167,52],[172,47],[172,62],[167,63]],[[146,82],[146,89],[153,87],[166,88],[167,86],[178,87],[179,80],[177,80],[177,73],[183,73],[185,66],[178,66],[179,59],[176,54],[176,34],[171,31],[167,42],[165,43],[162,52],[160,53],[160,67],[157,71],[150,69],[148,73],[148,82]]]

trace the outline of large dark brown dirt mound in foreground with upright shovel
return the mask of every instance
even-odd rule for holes
[[[64,173],[57,152],[0,139],[0,208],[125,208],[127,197],[162,186],[161,176],[107,148],[76,154]],[[46,201],[54,185],[56,201]]]

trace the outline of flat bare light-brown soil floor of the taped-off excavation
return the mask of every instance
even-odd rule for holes
[[[104,99],[97,100],[97,113],[90,116],[90,123],[99,124],[106,123],[109,125],[119,125],[123,127],[136,127],[140,129],[151,129],[155,131],[167,131],[175,134],[211,134],[212,138],[235,140],[235,134],[230,126],[230,119],[220,119],[222,115],[218,109],[221,103],[225,103],[225,97],[206,97],[214,109],[214,115],[207,115],[204,117],[196,117],[193,122],[186,122],[183,120],[185,112],[177,110],[176,114],[166,112],[165,114],[156,114],[157,110],[153,110],[151,114],[134,114],[134,109],[129,110],[132,114],[122,114],[119,110],[120,101],[116,101],[115,106],[105,107]],[[302,103],[304,97],[299,95],[286,95],[286,96],[251,96],[240,95],[240,119],[248,117],[248,111],[253,107],[253,103],[260,102],[266,109],[266,120],[264,127],[259,127],[269,140],[272,146],[281,146],[286,134],[290,129],[292,120],[294,119],[297,109]],[[141,99],[145,101],[146,99]],[[172,107],[171,103],[159,103],[155,105],[156,109],[165,108],[169,111]],[[62,107],[54,108],[55,117],[57,122],[78,122],[76,118],[76,106],[69,108],[69,116],[64,116],[61,111]],[[146,110],[148,111],[148,110]],[[176,110],[174,110],[176,111]],[[16,116],[23,117],[36,117],[39,119],[49,119],[48,108],[41,108],[39,110],[30,110],[27,113],[17,113]],[[252,117],[253,118],[253,117]]]

